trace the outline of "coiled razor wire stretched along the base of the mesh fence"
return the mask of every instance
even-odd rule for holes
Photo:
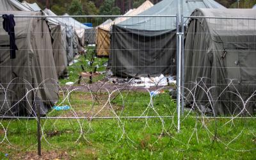
[[[15,78],[17,79],[17,78]],[[12,81],[10,81],[10,83],[4,88],[4,86],[2,84],[0,84],[1,86],[1,90],[3,90],[4,92],[4,100],[3,100],[3,104],[1,105],[1,109],[3,108],[4,104],[6,104],[6,102],[10,99],[8,99],[8,92],[12,92],[9,88],[9,86],[14,82],[13,79]],[[131,81],[129,81],[129,83],[124,83],[122,84],[122,86],[127,87],[127,86],[131,86],[127,89],[124,88],[120,88],[118,85],[116,84],[112,84],[113,88],[112,90],[109,90],[108,88],[104,88],[104,86],[106,86],[107,84],[109,84],[108,81],[106,82],[100,82],[97,86],[97,92],[92,92],[92,88],[90,87],[90,84],[88,84],[88,78],[81,78],[80,80],[83,81],[83,84],[79,85],[79,88],[76,88],[75,85],[73,86],[60,86],[60,84],[57,83],[57,81],[55,81],[55,83],[52,83],[56,86],[58,86],[59,88],[59,93],[61,94],[62,99],[60,100],[60,102],[58,103],[57,106],[63,106],[63,105],[68,105],[70,106],[70,109],[68,110],[68,113],[71,113],[70,115],[65,115],[65,111],[61,112],[58,111],[60,114],[54,115],[54,112],[56,111],[56,109],[52,109],[51,111],[49,111],[49,113],[47,113],[47,115],[45,117],[42,117],[42,119],[44,120],[44,122],[42,122],[41,124],[41,128],[42,128],[42,137],[41,140],[44,140],[46,142],[47,145],[49,145],[52,148],[56,148],[56,147],[60,147],[60,146],[56,146],[56,144],[52,144],[51,143],[51,138],[49,138],[49,136],[47,136],[47,132],[49,132],[49,129],[55,129],[58,130],[58,127],[60,126],[59,121],[60,120],[65,120],[69,122],[69,127],[70,129],[72,129],[72,124],[76,124],[76,126],[78,126],[78,128],[74,129],[74,131],[77,132],[77,134],[75,134],[74,132],[72,132],[72,134],[75,136],[76,135],[76,140],[74,140],[74,143],[77,143],[80,140],[85,140],[88,144],[93,145],[92,141],[90,140],[90,136],[88,136],[90,134],[91,131],[95,131],[93,129],[93,120],[97,120],[97,118],[101,119],[101,120],[113,120],[116,122],[116,127],[117,129],[121,132],[121,134],[118,136],[118,141],[122,141],[125,140],[127,141],[127,143],[129,145],[131,145],[132,147],[136,147],[137,145],[140,145],[136,142],[136,138],[134,139],[134,137],[131,137],[129,135],[129,129],[127,129],[126,125],[127,119],[133,120],[134,122],[138,122],[140,120],[141,123],[144,123],[144,127],[143,127],[143,131],[146,131],[147,128],[152,127],[152,125],[149,125],[148,120],[150,118],[155,118],[157,120],[159,120],[159,122],[161,123],[161,131],[159,130],[159,134],[157,134],[157,139],[152,143],[152,145],[155,145],[156,143],[159,142],[159,140],[161,139],[161,137],[164,136],[168,136],[170,138],[170,140],[174,140],[177,141],[177,143],[180,143],[180,145],[186,145],[188,148],[190,148],[190,143],[192,141],[193,138],[196,139],[196,142],[198,144],[200,144],[200,141],[202,141],[202,139],[205,139],[205,137],[202,137],[202,132],[206,132],[206,135],[208,136],[209,139],[209,145],[213,144],[213,143],[221,143],[223,144],[225,147],[227,147],[230,150],[234,150],[237,152],[245,152],[245,151],[251,151],[251,150],[255,150],[255,148],[233,148],[232,144],[233,143],[237,143],[236,141],[239,140],[239,138],[241,138],[243,136],[243,134],[251,134],[252,136],[255,137],[255,130],[252,129],[250,127],[250,125],[247,125],[246,120],[250,120],[248,117],[252,118],[252,120],[254,121],[255,116],[250,115],[250,113],[246,110],[246,105],[248,104],[248,102],[250,101],[250,99],[252,99],[255,96],[255,92],[252,93],[252,95],[250,95],[250,97],[248,97],[248,99],[243,99],[243,97],[241,96],[241,94],[238,92],[238,90],[236,90],[236,92],[231,92],[228,90],[229,87],[234,87],[236,88],[236,85],[234,84],[234,81],[236,81],[235,79],[230,79],[228,81],[227,86],[224,88],[224,90],[218,95],[216,100],[212,100],[212,95],[211,95],[211,90],[213,88],[216,88],[217,86],[211,86],[209,88],[206,88],[205,83],[204,83],[204,79],[207,79],[207,77],[202,77],[199,78],[199,81],[196,81],[194,84],[195,86],[192,89],[186,88],[184,87],[184,90],[186,91],[186,96],[182,95],[182,97],[184,97],[184,99],[186,101],[188,101],[189,99],[187,99],[186,97],[191,96],[192,97],[192,102],[191,102],[191,107],[190,108],[186,108],[186,112],[184,113],[184,116],[182,116],[181,119],[181,126],[184,130],[186,130],[186,127],[188,127],[189,129],[191,129],[190,132],[190,136],[188,136],[188,140],[184,140],[184,139],[180,139],[179,136],[175,136],[172,134],[173,131],[177,130],[177,125],[176,125],[176,108],[172,108],[170,106],[166,106],[165,104],[162,106],[164,108],[166,108],[168,110],[168,113],[165,115],[161,115],[161,113],[159,113],[159,108],[156,108],[157,106],[155,105],[155,100],[157,97],[161,97],[161,94],[153,96],[152,94],[150,94],[150,90],[148,90],[148,88],[144,88],[143,93],[148,95],[148,102],[147,102],[147,106],[145,108],[143,108],[143,110],[141,110],[140,115],[136,116],[136,115],[125,115],[124,114],[124,110],[125,108],[128,108],[129,106],[126,106],[126,102],[129,101],[128,97],[131,98],[132,95],[132,90],[136,90],[135,86],[132,86],[131,84],[134,83],[134,79],[131,79]],[[28,81],[26,81],[25,79],[21,79],[23,82],[26,82],[28,85]],[[8,111],[12,110],[12,108],[14,108],[15,106],[17,106],[19,104],[19,102],[21,100],[27,100],[28,99],[28,95],[29,93],[33,92],[34,94],[36,94],[36,92],[38,92],[38,90],[44,89],[44,90],[52,90],[52,88],[42,88],[40,87],[42,84],[44,83],[49,83],[49,82],[53,82],[54,79],[47,79],[45,81],[43,81],[42,83],[40,83],[38,85],[38,87],[36,88],[32,88],[30,90],[28,90],[28,92],[26,94],[24,94],[24,97],[22,97],[20,100],[17,100],[17,102],[15,102],[15,104],[13,104],[12,106],[8,106],[10,109],[8,109]],[[77,80],[78,81],[78,80]],[[76,82],[77,83],[77,82]],[[75,83],[75,84],[76,84]],[[31,86],[31,85],[29,85]],[[74,106],[73,102],[72,102],[72,95],[75,94],[78,90],[81,90],[81,88],[84,88],[84,90],[88,90],[88,92],[83,92],[83,93],[88,93],[88,95],[90,96],[86,96],[86,101],[90,101],[92,103],[92,106],[89,109],[89,113],[88,115],[82,113],[83,116],[81,116],[81,113],[78,113],[76,111],[76,106]],[[198,102],[198,100],[196,100],[196,89],[195,88],[200,88],[200,91],[203,91],[205,93],[205,95],[207,96],[207,99],[209,100],[209,107],[212,109],[212,116],[209,116],[205,113],[205,111],[202,111],[202,109],[199,107],[200,102]],[[160,91],[160,90],[166,90],[168,89],[168,86],[159,86],[159,88],[157,88],[156,92]],[[104,93],[104,96],[106,96],[106,99],[104,100],[104,97],[102,97],[102,93]],[[232,93],[234,95],[237,96],[237,99],[240,100],[240,103],[237,103],[237,107],[240,108],[241,111],[239,111],[239,113],[235,114],[231,114],[228,117],[227,116],[217,116],[214,114],[214,105],[216,105],[216,102],[218,102],[218,100],[220,99],[220,97],[224,94],[224,93]],[[88,99],[88,97],[90,97],[90,99]],[[115,105],[113,100],[116,99],[116,97],[118,97],[118,100],[120,100],[120,104],[122,104],[121,106],[121,110],[120,111],[116,111],[115,110]],[[135,99],[136,97],[133,97],[133,99]],[[133,100],[132,99],[132,100]],[[136,99],[138,100],[138,99]],[[171,101],[172,99],[164,99],[166,101]],[[83,102],[83,100],[82,100]],[[145,99],[143,100],[143,102],[145,102]],[[99,106],[97,106],[97,103],[100,104]],[[242,106],[240,106],[242,104]],[[7,104],[8,105],[8,104]],[[34,109],[33,109],[33,105],[34,104],[30,104],[28,102],[29,108],[31,109],[31,113],[29,113],[29,116],[24,116],[24,118],[21,118],[21,116],[15,116],[14,114],[12,115],[12,118],[10,118],[11,116],[4,116],[4,114],[1,116],[1,120],[0,120],[0,126],[4,132],[3,136],[0,136],[1,141],[0,144],[5,144],[10,146],[11,148],[15,149],[15,150],[20,150],[20,149],[24,149],[27,148],[28,146],[24,146],[24,148],[19,148],[20,146],[15,144],[14,142],[10,141],[10,139],[8,138],[8,136],[10,136],[12,134],[12,132],[9,133],[10,127],[12,127],[12,122],[18,122],[21,124],[26,124],[26,130],[29,131],[31,130],[31,127],[29,126],[29,122],[30,119],[34,119],[34,120],[38,120]],[[142,108],[142,106],[141,106]],[[104,115],[104,111],[109,111],[109,113],[111,113],[113,116],[109,116],[109,115]],[[244,115],[244,111],[247,113],[246,115]],[[7,111],[5,111],[4,113],[7,113]],[[168,116],[166,116],[168,115]],[[23,119],[25,119],[26,121],[24,121]],[[220,122],[220,119],[228,119],[227,122]],[[71,122],[72,120],[72,122]],[[186,121],[191,121],[192,123],[190,126],[188,126],[188,124],[186,124]],[[236,120],[238,120],[236,122]],[[168,123],[166,123],[168,122]],[[212,127],[212,125],[209,125],[208,123],[211,122],[212,124],[214,124],[214,127]],[[7,123],[7,125],[6,125]],[[244,124],[241,124],[244,123]],[[157,124],[157,123],[156,123]],[[194,124],[194,125],[192,125]],[[157,124],[159,125],[159,124]],[[235,136],[232,135],[232,137],[228,137],[228,140],[225,140],[225,138],[227,138],[227,135],[225,135],[225,133],[223,133],[223,137],[221,137],[220,132],[223,132],[223,128],[226,126],[229,126],[228,128],[230,129],[229,132],[231,132],[231,130],[236,130],[236,125],[243,125],[243,128],[240,129],[240,131],[236,132]],[[54,130],[54,131],[55,131]],[[107,133],[106,133],[107,134]],[[180,133],[182,134],[182,132]],[[31,137],[33,138],[33,137]],[[34,137],[35,138],[35,137]],[[36,141],[35,143],[32,145],[34,146],[36,145]],[[19,147],[17,147],[19,146]]]

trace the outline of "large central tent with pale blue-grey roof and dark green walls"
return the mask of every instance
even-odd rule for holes
[[[182,15],[196,8],[225,8],[213,0],[163,0],[139,15]],[[116,76],[175,74],[176,20],[174,17],[132,17],[113,25],[109,65]]]

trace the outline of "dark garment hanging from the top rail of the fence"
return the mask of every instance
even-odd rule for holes
[[[10,36],[10,58],[14,59],[16,58],[16,50],[18,50],[18,47],[15,44],[15,31],[14,31],[15,21],[13,19],[14,15],[4,14],[2,17],[4,19],[3,28]]]

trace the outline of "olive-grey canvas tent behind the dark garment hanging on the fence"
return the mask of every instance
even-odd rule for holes
[[[35,16],[42,12],[5,11],[3,14]],[[0,27],[0,114],[35,115],[35,106],[40,105],[44,115],[58,101],[58,77],[49,28],[41,18],[15,18],[15,22],[19,49],[15,59],[10,59],[9,35]]]

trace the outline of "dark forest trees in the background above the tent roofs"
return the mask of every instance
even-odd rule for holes
[[[23,1],[23,0],[19,0]],[[137,8],[145,0],[26,0],[37,3],[41,8],[49,8],[57,15],[121,15],[131,8]],[[150,0],[156,4],[161,0]],[[227,8],[237,8],[237,0],[215,0]],[[256,0],[240,0],[239,8],[252,8]],[[90,19],[77,18],[81,22]],[[94,21],[94,20],[93,20]],[[102,21],[102,20],[100,20]],[[93,22],[94,23],[94,22]]]

